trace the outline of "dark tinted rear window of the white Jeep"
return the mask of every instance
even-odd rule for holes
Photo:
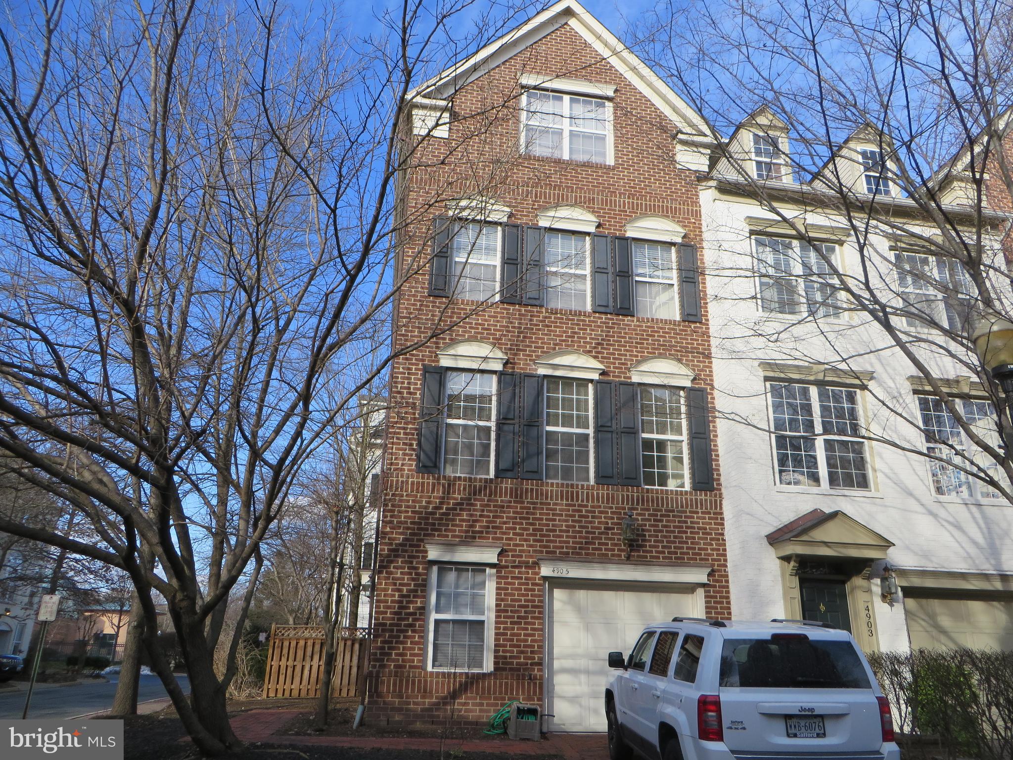
[[[764,689],[868,689],[851,641],[807,637],[726,638],[721,686]]]

